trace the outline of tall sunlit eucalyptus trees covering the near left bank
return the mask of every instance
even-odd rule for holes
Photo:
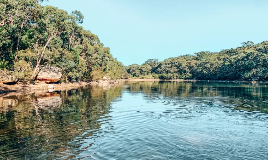
[[[110,48],[80,26],[81,12],[68,14],[44,1],[0,0],[1,75],[30,82],[39,65],[48,65],[61,68],[63,81],[125,78]]]

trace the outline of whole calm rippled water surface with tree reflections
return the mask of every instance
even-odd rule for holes
[[[0,158],[267,160],[268,85],[125,82],[6,94]]]

